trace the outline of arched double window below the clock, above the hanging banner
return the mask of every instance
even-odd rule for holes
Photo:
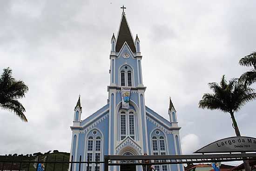
[[[120,85],[133,86],[133,70],[128,65],[122,66],[120,69]]]

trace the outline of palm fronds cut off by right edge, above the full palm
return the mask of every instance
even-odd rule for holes
[[[253,66],[248,72],[243,73],[240,79],[245,82],[245,85],[251,85],[256,82],[256,52],[253,52],[242,59],[240,59],[239,64],[241,66]]]

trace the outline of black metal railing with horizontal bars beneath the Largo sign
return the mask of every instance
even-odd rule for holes
[[[104,171],[108,166],[122,165],[168,165],[189,163],[229,162],[242,160],[256,160],[256,153],[244,154],[193,154],[193,155],[158,155],[158,156],[105,156]],[[125,161],[133,161],[126,163]]]

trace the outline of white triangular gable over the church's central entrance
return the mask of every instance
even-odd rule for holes
[[[116,155],[122,155],[121,153],[126,149],[134,151],[134,155],[141,155],[141,147],[138,145],[131,137],[126,137],[119,145],[116,147]]]

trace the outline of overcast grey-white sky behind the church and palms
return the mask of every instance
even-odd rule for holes
[[[21,100],[27,123],[0,111],[0,154],[70,151],[79,93],[82,119],[107,103],[110,39],[122,5],[141,41],[145,103],[168,119],[172,97],[183,154],[235,136],[229,114],[199,109],[198,101],[209,82],[249,70],[238,61],[256,51],[256,1],[2,0],[0,72],[11,67],[29,92]],[[244,136],[256,137],[255,106],[236,113]]]

